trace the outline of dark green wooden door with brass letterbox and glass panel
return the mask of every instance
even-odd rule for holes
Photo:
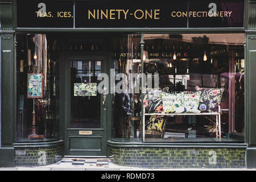
[[[106,156],[106,96],[97,92],[105,65],[104,56],[65,56],[65,155]]]

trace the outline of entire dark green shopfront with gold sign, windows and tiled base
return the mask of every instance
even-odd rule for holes
[[[255,8],[0,1],[0,167],[255,168]]]

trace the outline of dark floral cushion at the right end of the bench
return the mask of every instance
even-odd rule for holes
[[[220,105],[224,88],[200,88],[195,87],[197,91],[201,91],[199,110],[201,112],[218,111],[217,106]]]

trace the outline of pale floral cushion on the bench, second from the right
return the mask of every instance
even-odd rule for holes
[[[200,113],[198,110],[201,91],[197,92],[184,92],[184,107],[186,113]]]

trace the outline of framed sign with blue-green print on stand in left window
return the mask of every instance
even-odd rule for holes
[[[27,98],[43,97],[42,73],[28,73],[27,75]]]

